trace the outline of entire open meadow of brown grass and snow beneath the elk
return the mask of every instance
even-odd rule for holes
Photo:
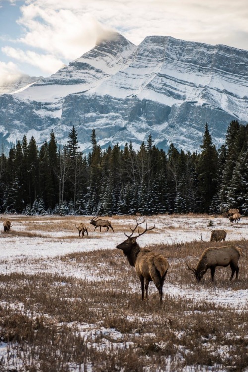
[[[0,218],[0,371],[248,372],[247,217],[146,217],[155,229],[138,244],[169,262],[162,305],[152,282],[141,301],[135,269],[116,249],[135,216],[103,217],[114,233],[94,232],[90,216]],[[89,238],[79,237],[81,222]],[[211,229],[226,241],[210,243]],[[225,245],[242,249],[238,280],[217,267],[214,284],[210,270],[197,284],[186,263]]]

